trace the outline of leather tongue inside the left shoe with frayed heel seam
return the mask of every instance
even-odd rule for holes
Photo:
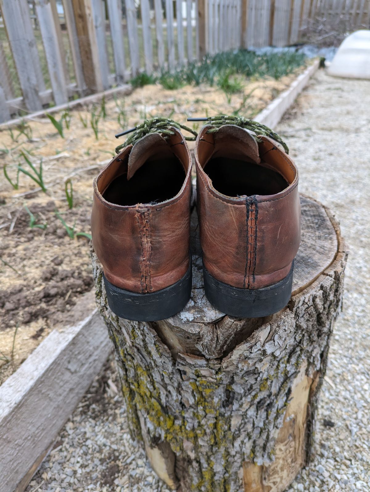
[[[131,150],[127,164],[127,179],[150,158],[155,159],[172,155],[168,143],[159,133],[149,133],[138,140]]]

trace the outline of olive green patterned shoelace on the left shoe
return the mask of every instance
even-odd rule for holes
[[[169,120],[168,118],[151,118],[150,120],[144,120],[132,130],[128,130],[127,132],[125,132],[128,133],[129,131],[133,131],[133,134],[130,135],[123,144],[116,147],[116,153],[118,154],[121,149],[127,147],[128,145],[134,145],[138,140],[140,140],[140,138],[144,137],[145,135],[149,135],[150,133],[174,135],[174,131],[171,130],[171,127],[177,128],[178,130],[188,131],[189,133],[192,133],[194,135],[193,137],[184,137],[185,140],[195,140],[198,135],[195,130],[189,128],[188,126],[177,123],[173,120]],[[122,133],[119,135],[122,135]]]

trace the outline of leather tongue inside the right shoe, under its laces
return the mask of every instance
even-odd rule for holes
[[[212,133],[215,142],[215,152],[225,154],[225,147],[228,146],[230,157],[246,157],[256,164],[261,162],[256,139],[244,128],[233,124],[220,126],[217,132]]]

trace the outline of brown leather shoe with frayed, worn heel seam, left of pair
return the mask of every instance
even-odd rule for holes
[[[191,157],[171,123],[137,127],[94,180],[93,247],[108,304],[137,321],[168,318],[191,293]]]

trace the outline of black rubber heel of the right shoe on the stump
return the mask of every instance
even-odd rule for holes
[[[292,296],[294,262],[289,274],[261,289],[239,289],[212,277],[203,264],[204,291],[208,301],[235,318],[260,318],[283,309]]]

